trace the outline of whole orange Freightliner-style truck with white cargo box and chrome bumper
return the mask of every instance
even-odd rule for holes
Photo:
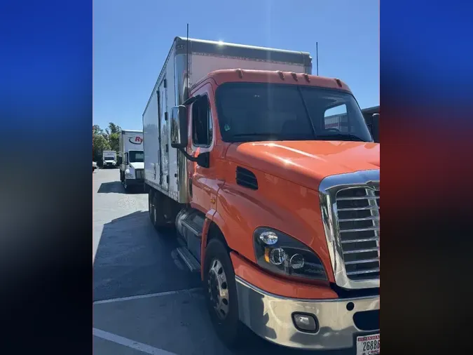
[[[309,53],[177,37],[143,114],[158,231],[200,269],[215,331],[380,351],[379,144]],[[338,124],[334,124],[338,122]]]

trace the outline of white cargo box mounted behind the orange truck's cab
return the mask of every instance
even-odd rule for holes
[[[144,182],[187,203],[186,161],[170,147],[170,112],[193,84],[218,69],[280,70],[312,74],[306,52],[176,37],[143,113]]]

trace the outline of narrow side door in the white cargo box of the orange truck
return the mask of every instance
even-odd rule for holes
[[[169,187],[169,140],[168,140],[168,125],[167,125],[167,85],[166,79],[160,83],[158,89],[159,95],[159,146],[160,146],[160,164],[159,164],[159,181],[163,189]]]

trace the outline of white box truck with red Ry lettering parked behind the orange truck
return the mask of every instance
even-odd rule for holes
[[[130,187],[144,187],[143,131],[122,130],[120,134],[120,181],[125,190]]]

